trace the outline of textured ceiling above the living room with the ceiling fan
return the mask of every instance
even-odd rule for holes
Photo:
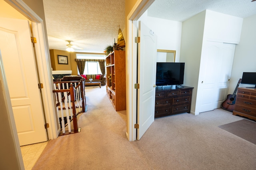
[[[43,0],[50,49],[66,50],[66,40],[83,50],[103,53],[125,28],[125,0]],[[116,39],[117,41],[117,39]]]

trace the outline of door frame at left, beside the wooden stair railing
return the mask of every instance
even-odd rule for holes
[[[38,62],[38,71],[40,83],[44,84],[42,88],[42,102],[44,103],[44,111],[46,116],[46,123],[49,124],[47,129],[48,139],[56,139],[58,137],[57,121],[55,116],[55,102],[52,94],[52,72],[49,66],[48,61],[50,61],[50,53],[47,49],[47,40],[44,31],[44,22],[43,20],[31,10],[22,0],[5,0],[18,12],[26,16],[28,20],[34,22],[32,27],[35,32],[33,36],[37,38],[37,43],[35,44],[36,49],[36,59]],[[5,88],[8,89],[8,88]],[[12,113],[12,111],[10,112]],[[14,123],[14,119],[11,119]]]

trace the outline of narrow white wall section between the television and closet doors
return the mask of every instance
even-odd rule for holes
[[[185,63],[184,85],[192,90],[191,113],[195,114],[198,74],[204,33],[205,11],[182,23],[180,62]]]

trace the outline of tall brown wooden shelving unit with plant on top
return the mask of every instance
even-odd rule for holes
[[[106,56],[106,91],[116,111],[126,110],[125,51]]]

